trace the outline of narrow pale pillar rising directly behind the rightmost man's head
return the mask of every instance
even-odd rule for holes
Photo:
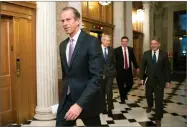
[[[144,22],[143,22],[143,52],[150,49],[150,21],[149,21],[149,11],[150,11],[150,2],[143,2],[144,8]]]

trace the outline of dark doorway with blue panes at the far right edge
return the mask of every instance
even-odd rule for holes
[[[173,70],[186,72],[186,10],[174,12]]]

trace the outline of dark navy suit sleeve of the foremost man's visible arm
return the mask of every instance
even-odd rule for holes
[[[93,97],[100,91],[101,78],[104,68],[104,58],[102,57],[102,49],[100,47],[99,40],[94,38],[90,42],[90,47],[88,49],[88,63],[89,63],[89,77],[90,80],[86,85],[82,95],[76,102],[83,109],[89,105]]]

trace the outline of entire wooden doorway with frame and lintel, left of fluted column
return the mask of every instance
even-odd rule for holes
[[[36,108],[36,11],[33,3],[0,3],[0,125],[32,119]]]

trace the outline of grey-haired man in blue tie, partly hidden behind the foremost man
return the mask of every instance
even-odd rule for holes
[[[104,33],[101,38],[101,48],[103,51],[103,57],[105,59],[104,64],[104,74],[103,74],[103,80],[102,80],[102,86],[103,86],[103,94],[104,94],[104,113],[108,112],[108,116],[112,117],[112,109],[114,108],[113,105],[113,92],[112,92],[112,86],[113,86],[113,80],[116,76],[116,69],[115,69],[115,56],[114,56],[114,49],[110,47],[110,41],[111,37],[109,34]],[[105,96],[107,95],[107,104],[108,104],[108,111],[105,101]]]

